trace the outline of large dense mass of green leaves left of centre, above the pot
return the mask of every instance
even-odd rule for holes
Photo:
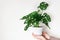
[[[22,20],[25,19],[25,22],[24,24],[27,24],[25,26],[25,29],[24,30],[27,30],[28,27],[30,26],[34,26],[34,27],[38,27],[39,26],[39,21],[41,20],[41,14],[38,14],[37,11],[34,11],[26,16],[23,16],[22,17]]]

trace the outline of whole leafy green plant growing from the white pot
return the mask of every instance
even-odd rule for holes
[[[39,22],[44,23],[45,25],[47,25],[48,28],[50,28],[48,23],[51,22],[51,18],[47,13],[43,13],[43,10],[46,10],[47,7],[48,7],[48,3],[41,2],[40,5],[37,7],[39,8],[39,10],[33,11],[30,14],[23,16],[21,18],[22,20],[25,19],[24,21],[24,24],[26,24],[24,28],[25,31],[32,25],[34,27],[39,27]],[[40,11],[42,11],[42,13]]]

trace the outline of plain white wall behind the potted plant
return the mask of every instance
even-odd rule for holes
[[[0,40],[35,40],[30,31],[24,31],[21,17],[37,9],[43,0],[0,0]],[[45,0],[51,15],[49,35],[60,37],[60,0]]]

